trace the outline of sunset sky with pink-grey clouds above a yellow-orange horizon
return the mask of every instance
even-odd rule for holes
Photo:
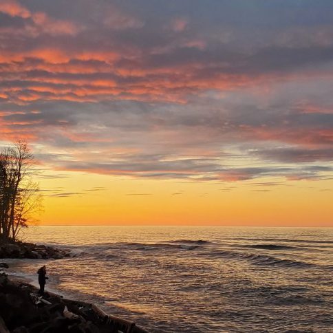
[[[333,226],[332,0],[0,0],[0,73],[41,224]]]

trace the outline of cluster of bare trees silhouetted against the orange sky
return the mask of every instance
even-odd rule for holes
[[[28,145],[19,141],[0,153],[0,236],[15,240],[39,211],[41,195],[32,182],[34,158]]]

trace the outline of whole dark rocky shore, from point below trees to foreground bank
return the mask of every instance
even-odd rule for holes
[[[66,257],[70,257],[68,251],[52,246],[0,244],[0,261],[5,265],[0,267],[0,332],[148,333],[136,323],[105,313],[95,303],[80,301],[78,295],[64,297],[59,288],[47,288],[41,297],[36,279],[20,270],[10,272],[22,259],[38,262]]]

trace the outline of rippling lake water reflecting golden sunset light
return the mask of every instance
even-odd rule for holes
[[[150,332],[333,332],[333,228],[40,226],[10,271]]]

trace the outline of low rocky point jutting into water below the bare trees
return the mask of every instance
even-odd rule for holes
[[[0,243],[0,259],[63,259],[69,253],[51,246],[15,241]]]

